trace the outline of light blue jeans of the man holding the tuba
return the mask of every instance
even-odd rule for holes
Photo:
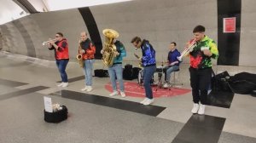
[[[125,91],[124,81],[123,81],[123,67],[122,64],[115,64],[113,66],[108,67],[108,75],[110,77],[110,81],[112,84],[113,91],[117,91],[116,80],[119,82],[119,88],[121,92]]]

